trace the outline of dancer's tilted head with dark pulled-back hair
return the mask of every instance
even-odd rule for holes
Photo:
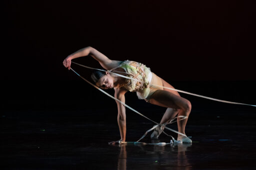
[[[113,77],[108,72],[94,71],[91,79],[102,89],[113,88]]]

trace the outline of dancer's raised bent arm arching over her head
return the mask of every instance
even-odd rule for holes
[[[63,65],[65,67],[68,68],[68,70],[70,69],[70,65],[71,65],[71,60],[74,58],[78,58],[78,57],[82,57],[82,56],[87,56],[90,55],[92,56],[95,60],[97,60],[99,62],[99,64],[106,70],[110,70],[112,68],[115,68],[117,66],[119,66],[119,64],[121,63],[121,61],[117,61],[117,60],[110,60],[109,58],[107,58],[104,54],[100,53],[99,51],[97,51],[96,49],[88,46],[82,49],[79,49],[78,51],[68,55],[64,61],[63,61]]]

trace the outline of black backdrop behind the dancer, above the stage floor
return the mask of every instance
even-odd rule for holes
[[[115,108],[62,65],[86,46],[110,59],[144,63],[177,89],[255,104],[254,9],[249,0],[4,1],[2,108]],[[75,61],[100,68],[92,57]],[[71,67],[89,78],[91,70]],[[219,108],[217,102],[182,96],[194,108]],[[135,94],[129,97],[137,102]]]

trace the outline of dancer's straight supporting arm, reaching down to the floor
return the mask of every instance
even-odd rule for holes
[[[123,103],[125,103],[124,94],[127,92],[126,89],[123,88],[116,88],[114,89],[114,97]],[[119,126],[120,136],[121,139],[119,141],[125,142],[125,135],[126,135],[126,114],[125,114],[125,106],[123,106],[118,101],[115,101],[117,104],[118,114],[117,114],[117,123]]]

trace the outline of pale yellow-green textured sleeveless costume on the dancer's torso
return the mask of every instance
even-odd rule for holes
[[[156,87],[153,85],[149,85],[149,83],[162,86],[161,79],[150,71],[150,68],[146,67],[144,64],[135,62],[135,61],[123,61],[118,67],[124,69],[125,73],[128,77],[134,78],[144,83],[125,79],[124,84],[120,87],[124,87],[130,92],[136,92],[138,99],[144,99],[146,102],[150,99],[150,96],[156,90],[163,90],[162,87]],[[112,71],[116,68],[112,68],[109,71]]]

